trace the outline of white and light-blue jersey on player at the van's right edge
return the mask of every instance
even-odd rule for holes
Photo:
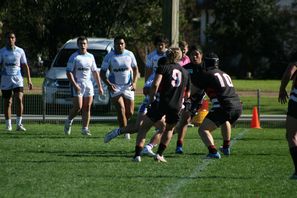
[[[133,82],[133,67],[137,62],[133,52],[124,50],[122,54],[116,54],[114,50],[103,59],[101,70],[109,70],[109,81],[115,85],[131,85]]]

